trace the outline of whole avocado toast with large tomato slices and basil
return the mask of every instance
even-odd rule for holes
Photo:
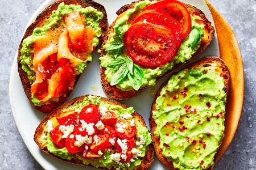
[[[102,87],[116,100],[129,99],[174,73],[203,53],[214,36],[204,13],[179,1],[137,1],[117,15],[100,57]]]

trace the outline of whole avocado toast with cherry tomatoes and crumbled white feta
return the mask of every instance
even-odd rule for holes
[[[108,169],[147,169],[154,150],[146,124],[134,109],[104,97],[76,97],[48,114],[36,144],[67,162]]]

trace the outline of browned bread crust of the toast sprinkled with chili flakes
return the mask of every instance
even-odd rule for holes
[[[201,68],[207,68],[208,72],[214,73],[217,75],[220,75],[224,78],[225,83],[225,92],[227,94],[227,97],[229,95],[229,86],[230,86],[230,75],[229,70],[224,61],[220,59],[219,57],[206,57],[201,59],[198,62],[192,63],[188,66],[188,69],[201,69]],[[170,169],[175,169],[172,162],[168,162],[167,158],[165,158],[162,154],[162,150],[159,148],[160,145],[160,138],[158,135],[154,134],[154,131],[156,131],[156,123],[153,116],[153,112],[156,111],[156,99],[160,96],[160,92],[162,91],[162,88],[166,86],[168,83],[168,80],[162,84],[162,86],[159,88],[158,92],[155,95],[155,99],[152,103],[151,107],[151,114],[150,114],[150,128],[151,128],[151,135],[153,139],[153,144],[155,148],[156,155],[158,156],[159,160],[166,165]],[[213,167],[213,166],[212,166]],[[212,168],[211,167],[211,168]]]

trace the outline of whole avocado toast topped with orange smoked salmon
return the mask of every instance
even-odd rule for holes
[[[72,92],[108,29],[94,1],[58,0],[43,10],[19,45],[18,71],[33,107],[49,113]]]

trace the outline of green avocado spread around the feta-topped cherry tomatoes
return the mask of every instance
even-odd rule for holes
[[[117,117],[120,117],[121,114],[127,114],[127,113],[133,114],[134,113],[134,109],[132,107],[125,109],[119,105],[108,104],[104,101],[101,101],[100,98],[97,96],[86,96],[84,98],[84,100],[69,106],[67,109],[64,109],[61,112],[73,110],[73,109],[81,110],[82,108],[84,108],[86,105],[89,105],[89,104],[103,106],[106,109],[117,114]],[[142,158],[146,155],[146,152],[148,150],[148,145],[150,145],[150,143],[152,142],[151,135],[150,135],[149,131],[147,130],[147,127],[143,126],[142,123],[137,120],[135,120],[134,125],[137,128],[136,137],[139,138],[139,137],[141,137],[141,135],[143,135],[145,144],[143,145],[142,148],[135,145],[135,148],[137,148],[137,150],[141,151],[142,154],[138,158],[133,158],[134,162],[129,162],[129,165],[127,165],[127,163],[119,164],[119,163],[114,162],[112,159],[110,159],[110,155],[113,154],[113,151],[108,151],[108,150],[103,152],[102,158],[94,158],[94,159],[86,159],[86,158],[83,158],[79,154],[71,154],[68,152],[67,148],[65,148],[65,147],[59,148],[56,145],[54,145],[54,143],[52,142],[52,139],[49,135],[50,133],[47,131],[46,131],[46,133],[47,133],[46,147],[49,152],[51,152],[52,154],[54,154],[56,156],[60,156],[60,158],[67,159],[67,160],[71,160],[72,158],[77,158],[77,159],[80,159],[83,164],[85,164],[85,165],[91,164],[96,168],[104,167],[104,168],[111,169],[114,167],[114,168],[120,168],[120,169],[133,169],[135,167],[138,167],[141,164]],[[47,130],[47,128],[46,128],[46,130]]]

